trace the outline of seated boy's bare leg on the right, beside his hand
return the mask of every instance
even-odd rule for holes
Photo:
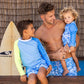
[[[41,84],[48,84],[48,80],[46,78],[46,73],[47,73],[47,70],[44,67],[41,67],[39,69],[37,77],[40,80]]]

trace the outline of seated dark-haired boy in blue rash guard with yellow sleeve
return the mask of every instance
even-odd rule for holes
[[[23,20],[17,24],[21,38],[15,41],[14,56],[16,67],[20,73],[20,80],[25,82],[28,77],[28,84],[36,84],[37,78],[41,84],[48,84],[46,75],[51,71],[49,57],[42,44],[34,38],[35,29],[31,20]],[[26,68],[26,74],[21,65]]]

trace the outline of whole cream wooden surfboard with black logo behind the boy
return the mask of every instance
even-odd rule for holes
[[[11,21],[1,41],[0,53],[6,54],[0,55],[0,75],[18,75],[13,54],[14,42],[18,38],[20,38],[20,34],[13,21]],[[8,54],[9,51],[12,52],[10,55]]]

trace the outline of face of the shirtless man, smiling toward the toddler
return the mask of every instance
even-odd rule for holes
[[[55,20],[56,20],[55,10],[49,11],[47,12],[47,14],[44,15],[44,21],[47,24],[54,24]]]

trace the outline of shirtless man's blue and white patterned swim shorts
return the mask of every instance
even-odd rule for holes
[[[67,58],[65,61],[67,69],[69,70],[69,73],[66,74],[66,76],[77,76],[77,69],[73,61],[73,58],[72,57]],[[48,74],[48,76],[62,76],[64,70],[62,68],[61,62],[51,61],[51,65],[52,65],[52,71]]]

